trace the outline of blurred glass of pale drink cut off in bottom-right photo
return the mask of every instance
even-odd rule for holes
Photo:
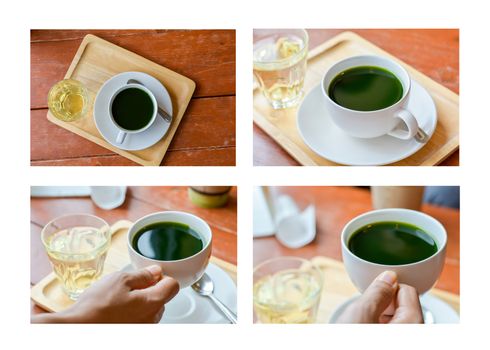
[[[254,269],[254,310],[261,323],[314,323],[323,277],[310,261],[267,260]]]

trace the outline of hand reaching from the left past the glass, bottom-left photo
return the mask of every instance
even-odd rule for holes
[[[116,272],[95,282],[65,311],[33,317],[34,323],[156,323],[179,284],[153,265]]]

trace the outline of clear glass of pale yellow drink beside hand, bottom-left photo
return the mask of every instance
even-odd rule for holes
[[[65,215],[41,232],[56,277],[73,300],[100,278],[111,242],[111,230],[102,219],[86,214]]]

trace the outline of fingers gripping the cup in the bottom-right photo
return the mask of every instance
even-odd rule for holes
[[[423,323],[415,288],[398,283],[396,273],[385,271],[340,315],[338,323]]]

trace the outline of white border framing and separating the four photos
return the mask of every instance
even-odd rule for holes
[[[477,3],[475,1],[475,3]],[[2,89],[1,213],[3,271],[0,318],[8,348],[47,349],[168,347],[191,349],[319,348],[449,349],[485,341],[490,302],[488,200],[490,167],[486,155],[490,116],[487,33],[484,3],[470,1],[372,0],[341,2],[217,1],[181,2],[62,1],[4,4],[2,32],[5,67]],[[155,9],[153,9],[153,7]],[[252,29],[306,28],[459,28],[460,167],[300,168],[253,167]],[[236,29],[236,167],[30,167],[31,28],[188,28]],[[6,124],[4,124],[6,125]],[[29,130],[29,131],[28,131]],[[182,176],[186,174],[186,176]],[[114,179],[117,179],[115,181]],[[30,325],[29,186],[31,185],[238,185],[239,325]],[[123,183],[121,183],[123,182]],[[459,325],[253,325],[252,188],[254,185],[459,185],[461,186],[461,323]],[[471,341],[471,343],[470,343]],[[2,348],[7,348],[2,345]]]

